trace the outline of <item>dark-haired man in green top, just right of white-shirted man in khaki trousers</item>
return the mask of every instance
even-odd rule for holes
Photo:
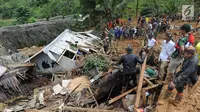
[[[184,24],[183,26],[181,26],[181,34],[183,35],[178,42],[175,45],[175,51],[171,56],[170,59],[170,63],[168,66],[168,81],[172,80],[172,77],[174,75],[174,72],[176,70],[176,68],[178,67],[178,65],[180,65],[180,63],[183,61],[183,53],[185,48],[189,47],[188,46],[188,33],[190,31],[190,25],[188,24]]]

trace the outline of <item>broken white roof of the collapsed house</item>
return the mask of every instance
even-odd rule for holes
[[[78,52],[78,48],[73,49],[75,47],[74,45],[85,46],[89,48],[90,46],[93,45],[92,44],[93,39],[100,39],[89,33],[90,32],[73,32],[71,30],[66,29],[50,44],[48,44],[45,48],[43,48],[42,51],[54,61],[57,61],[58,57],[55,57],[52,53],[55,53],[57,55],[63,55],[64,51],[68,50],[76,54]],[[89,51],[88,48],[85,48],[85,50]],[[34,58],[35,56],[36,55],[31,57],[30,59]]]

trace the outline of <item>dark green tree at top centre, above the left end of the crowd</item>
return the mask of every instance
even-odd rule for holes
[[[114,21],[131,0],[81,0],[83,14],[90,14],[94,23]]]

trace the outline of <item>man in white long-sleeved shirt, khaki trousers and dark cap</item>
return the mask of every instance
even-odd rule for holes
[[[164,78],[165,68],[168,66],[170,57],[175,50],[174,48],[175,43],[171,39],[172,39],[172,34],[170,32],[166,33],[165,40],[162,43],[162,50],[159,55],[159,61],[160,61],[159,79],[160,80],[165,80]]]

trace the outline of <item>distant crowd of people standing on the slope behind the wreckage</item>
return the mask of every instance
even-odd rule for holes
[[[111,42],[115,40],[135,39],[139,37],[146,37],[146,39],[149,40],[151,35],[156,39],[158,33],[167,32],[170,28],[170,20],[171,19],[168,17],[149,18],[142,16],[138,18],[137,26],[135,27],[131,26],[130,23],[133,21],[130,18],[127,23],[120,21],[120,19],[110,21],[102,35],[104,52],[107,52],[109,47],[112,47]],[[153,39],[153,41],[155,39]]]

